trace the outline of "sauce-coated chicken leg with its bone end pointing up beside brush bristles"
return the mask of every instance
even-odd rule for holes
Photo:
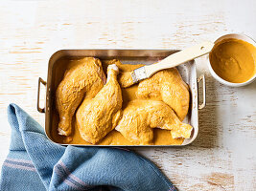
[[[92,99],[85,99],[77,111],[77,124],[81,138],[96,144],[114,129],[122,116],[122,92],[117,81],[116,65],[107,68],[103,89]]]

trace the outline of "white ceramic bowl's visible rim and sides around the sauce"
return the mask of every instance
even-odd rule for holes
[[[235,39],[244,40],[245,42],[248,42],[248,43],[252,44],[254,47],[256,47],[256,42],[254,40],[252,40],[250,37],[248,37],[244,34],[239,34],[239,33],[230,33],[230,34],[223,35],[215,41],[215,44],[217,44],[218,42],[221,42],[221,40],[227,39],[227,38],[235,38]],[[256,74],[254,74],[249,80],[247,80],[243,83],[232,83],[232,82],[229,82],[229,81],[226,81],[226,80],[222,79],[218,74],[216,74],[214,72],[214,70],[212,68],[212,65],[210,63],[210,59],[208,59],[207,64],[208,64],[208,68],[210,70],[210,73],[213,75],[213,77],[216,78],[219,82],[221,82],[221,84],[224,84],[224,85],[227,85],[227,86],[241,87],[241,86],[245,86],[245,85],[253,82],[256,79]]]

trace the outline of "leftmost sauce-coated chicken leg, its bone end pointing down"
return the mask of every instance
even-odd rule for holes
[[[72,117],[82,98],[93,98],[105,84],[105,74],[99,59],[85,57],[80,62],[64,74],[58,85],[56,104],[59,135],[69,136],[72,133]]]

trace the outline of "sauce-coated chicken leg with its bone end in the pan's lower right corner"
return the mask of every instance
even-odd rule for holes
[[[182,123],[163,101],[135,99],[128,103],[116,126],[134,144],[151,144],[152,128],[171,130],[173,138],[190,138],[192,126]],[[171,136],[170,135],[170,136]]]

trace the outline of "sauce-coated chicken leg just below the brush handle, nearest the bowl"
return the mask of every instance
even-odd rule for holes
[[[187,84],[175,68],[160,71],[141,81],[136,95],[142,99],[164,101],[181,121],[187,116],[190,94]]]

